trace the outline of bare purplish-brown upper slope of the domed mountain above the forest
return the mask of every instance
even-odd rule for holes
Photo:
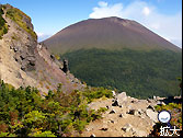
[[[54,53],[81,48],[171,49],[180,48],[139,23],[119,18],[89,19],[72,24],[44,41]]]

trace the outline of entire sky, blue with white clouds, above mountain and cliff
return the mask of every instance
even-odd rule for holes
[[[182,47],[182,0],[0,0],[32,18],[39,41],[87,19],[135,20]]]

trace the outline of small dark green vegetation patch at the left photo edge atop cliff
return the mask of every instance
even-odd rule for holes
[[[8,33],[8,25],[5,24],[5,20],[2,18],[3,10],[2,5],[0,4],[0,39],[4,34]]]

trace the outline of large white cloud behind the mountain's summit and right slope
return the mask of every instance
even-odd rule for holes
[[[155,5],[140,0],[126,7],[123,7],[123,3],[108,4],[105,1],[100,1],[99,5],[93,8],[93,12],[89,15],[91,19],[107,16],[135,20],[165,39],[170,39],[176,46],[182,47],[182,11],[168,15],[158,12]]]

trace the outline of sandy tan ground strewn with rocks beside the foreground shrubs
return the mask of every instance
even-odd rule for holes
[[[91,110],[106,107],[102,119],[90,123],[82,136],[84,137],[148,137],[158,122],[158,112],[153,106],[165,104],[165,97],[155,96],[138,100],[126,95],[126,92],[114,95],[114,99],[98,100],[89,104]]]

